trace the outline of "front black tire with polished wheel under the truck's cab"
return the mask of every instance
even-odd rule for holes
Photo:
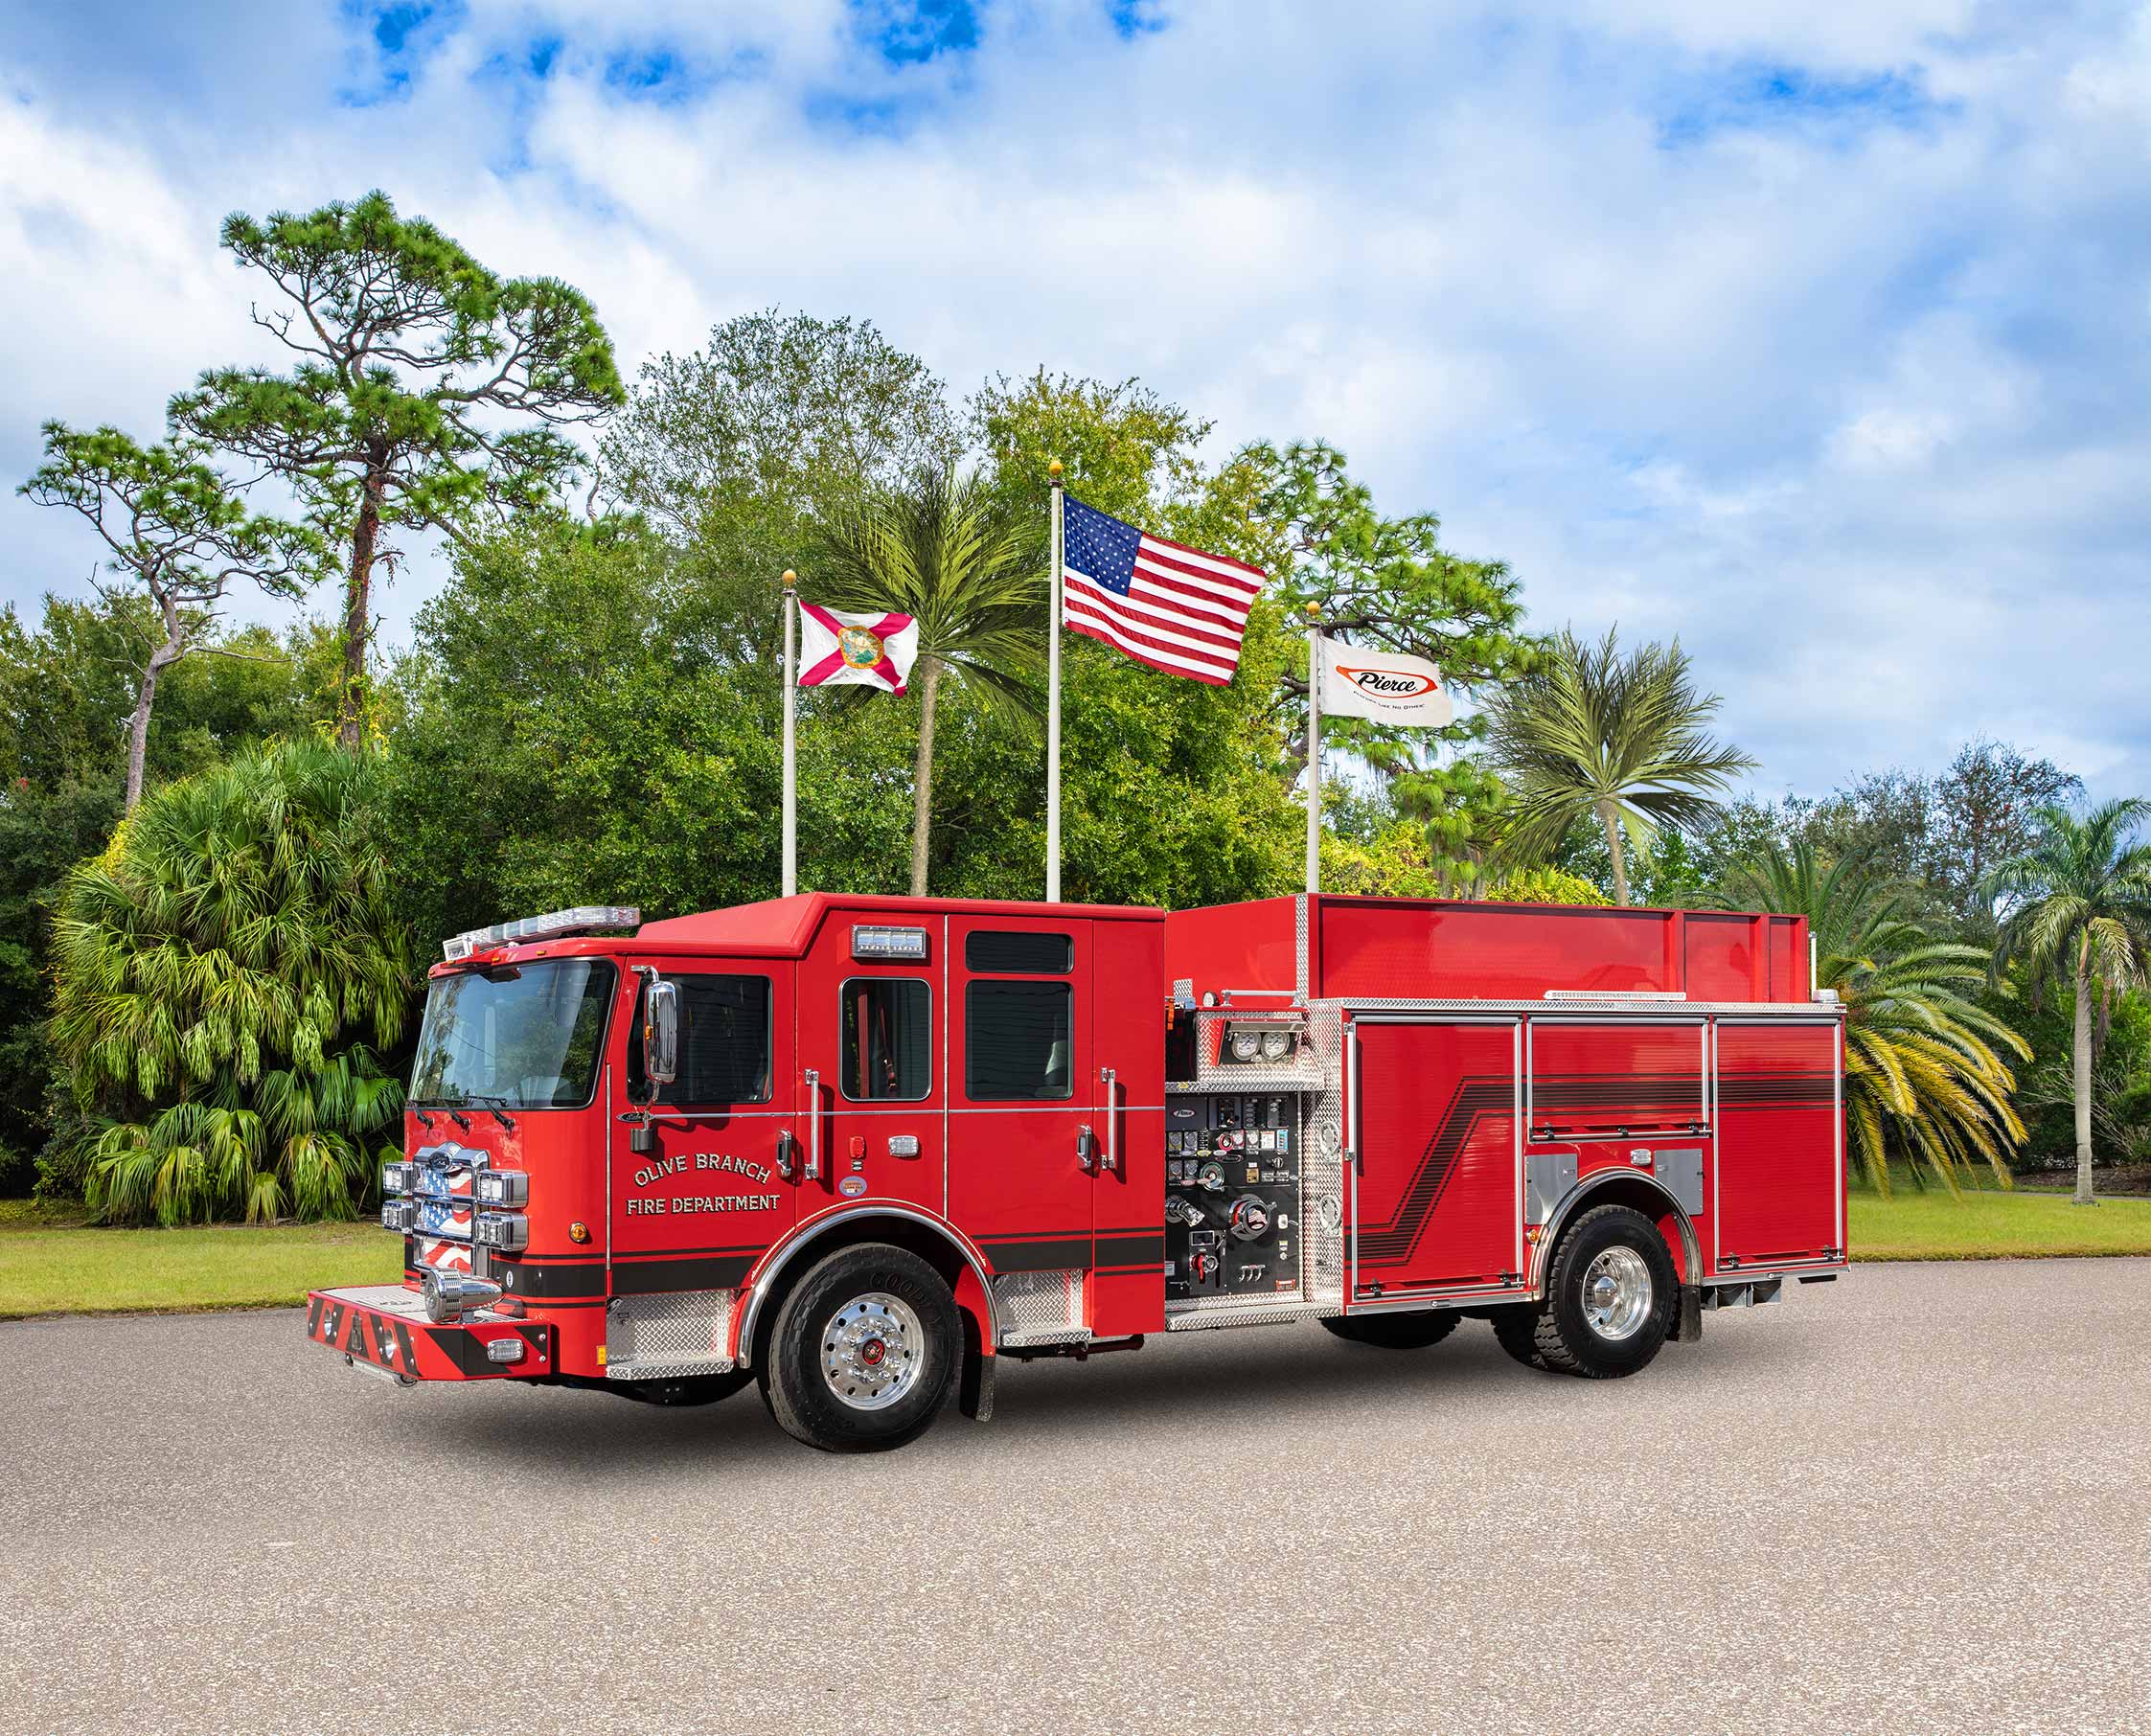
[[[796,1441],[886,1452],[940,1413],[961,1347],[942,1276],[903,1248],[863,1241],[792,1286],[761,1355],[761,1396]]]

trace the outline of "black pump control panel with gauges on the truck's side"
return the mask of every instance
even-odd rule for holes
[[[1166,1299],[1299,1293],[1299,1097],[1166,1104]]]

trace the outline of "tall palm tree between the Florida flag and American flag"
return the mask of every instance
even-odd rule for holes
[[[1045,643],[1039,538],[981,478],[921,469],[824,525],[813,589],[835,609],[895,609],[918,622],[918,757],[912,772],[912,897],[927,891],[934,706],[955,675],[992,710],[1037,710]]]

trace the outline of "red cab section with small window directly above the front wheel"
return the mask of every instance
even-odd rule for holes
[[[944,927],[837,916],[800,962],[802,1220],[865,1198],[942,1209]]]

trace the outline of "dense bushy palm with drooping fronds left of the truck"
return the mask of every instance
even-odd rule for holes
[[[402,1084],[411,942],[370,757],[314,742],[142,798],[60,899],[52,1041],[105,1121],[105,1218],[348,1218]]]

